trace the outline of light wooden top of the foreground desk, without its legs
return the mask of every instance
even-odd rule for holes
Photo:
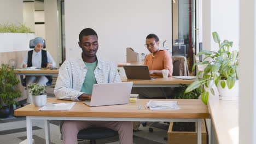
[[[151,111],[145,109],[149,100],[177,100],[180,110]],[[67,103],[71,101],[47,99],[48,103]],[[141,105],[141,110],[138,106]],[[89,107],[83,101],[68,111],[39,111],[40,107],[26,105],[14,111],[15,116],[44,117],[119,117],[119,118],[209,118],[208,107],[200,99],[139,99],[136,103],[124,105]]]

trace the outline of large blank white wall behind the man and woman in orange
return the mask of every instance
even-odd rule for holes
[[[79,0],[65,1],[66,58],[80,56],[78,35],[90,27],[98,34],[98,56],[125,62],[126,47],[149,53],[144,47],[149,33],[160,43],[172,41],[172,1]]]

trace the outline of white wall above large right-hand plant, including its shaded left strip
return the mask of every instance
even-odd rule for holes
[[[219,50],[212,39],[212,32],[218,32],[220,40],[233,41],[232,50],[239,50],[239,1],[207,0],[202,4],[203,49]]]

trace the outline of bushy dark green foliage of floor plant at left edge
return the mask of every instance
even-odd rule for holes
[[[0,118],[7,118],[10,107],[17,104],[16,98],[21,97],[21,92],[14,88],[20,80],[13,73],[13,68],[2,64],[0,68]]]

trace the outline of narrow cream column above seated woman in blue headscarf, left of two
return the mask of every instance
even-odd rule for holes
[[[34,32],[34,2],[23,3],[23,21],[25,26]]]

